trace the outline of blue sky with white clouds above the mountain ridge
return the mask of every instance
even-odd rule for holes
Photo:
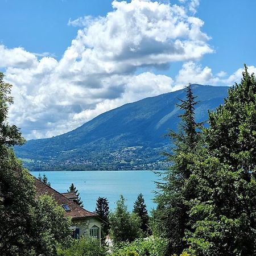
[[[254,0],[0,0],[9,122],[26,139],[63,134],[188,82],[256,71]],[[217,88],[216,88],[217,89]]]

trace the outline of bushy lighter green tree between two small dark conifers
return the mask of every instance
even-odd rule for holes
[[[140,236],[140,219],[137,214],[128,212],[122,195],[115,204],[114,212],[109,215],[110,233],[114,242],[131,242]]]

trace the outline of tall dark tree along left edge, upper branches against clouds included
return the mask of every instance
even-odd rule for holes
[[[31,205],[34,204],[34,184],[15,158],[10,146],[24,143],[16,126],[7,122],[11,85],[0,73],[0,251],[2,255],[20,255],[30,250]]]

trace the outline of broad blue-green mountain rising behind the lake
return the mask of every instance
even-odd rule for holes
[[[227,96],[228,87],[192,85],[198,96],[196,121],[206,121]],[[170,151],[168,129],[177,130],[176,104],[184,90],[125,104],[68,133],[33,139],[15,147],[30,170],[144,170],[163,168],[160,152]]]

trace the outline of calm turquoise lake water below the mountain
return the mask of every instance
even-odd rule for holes
[[[46,174],[51,187],[60,193],[67,192],[69,185],[74,183],[84,202],[84,208],[92,212],[99,196],[109,200],[109,208],[112,210],[120,195],[125,197],[128,209],[132,210],[139,193],[144,196],[148,212],[156,207],[152,199],[156,189],[154,181],[159,178],[152,171],[31,172],[35,177],[38,177],[39,173]]]

